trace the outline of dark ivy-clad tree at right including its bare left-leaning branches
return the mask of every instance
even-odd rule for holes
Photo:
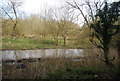
[[[118,21],[120,17],[120,1],[113,2],[109,5],[108,2],[105,0],[101,5],[99,5],[99,8],[99,2],[94,3],[94,7],[92,7],[89,2],[86,3],[90,10],[89,17],[91,18],[91,20],[88,20],[85,17],[85,14],[81,10],[77,2],[74,1],[74,4],[68,2],[69,5],[81,12],[84,20],[87,23],[87,26],[95,31],[92,34],[92,38],[90,41],[103,50],[104,59],[100,58],[100,60],[102,60],[108,66],[113,67],[114,65],[111,61],[113,61],[115,57],[111,60],[109,58],[109,44],[111,41],[111,37],[118,33],[120,29],[119,25],[115,25],[115,22]],[[92,8],[96,8],[95,14],[93,13]],[[99,40],[99,44],[93,40],[93,37]]]

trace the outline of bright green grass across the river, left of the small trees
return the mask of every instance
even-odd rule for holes
[[[2,38],[2,49],[37,49],[55,46],[53,40],[38,40],[32,38]]]

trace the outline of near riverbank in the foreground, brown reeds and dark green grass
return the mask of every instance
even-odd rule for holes
[[[100,62],[92,63],[90,60],[78,62],[64,58],[42,58],[38,62],[7,64],[3,65],[3,79],[119,79],[118,68],[108,68]]]

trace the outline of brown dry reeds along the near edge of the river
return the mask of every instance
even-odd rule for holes
[[[5,64],[3,65],[3,79],[39,79],[47,73],[54,72],[58,69],[79,68],[82,66],[106,67],[106,65],[97,58],[97,54],[100,54],[100,58],[103,58],[101,50],[85,49],[85,59],[80,61],[74,61],[64,57],[44,57],[37,62],[22,62],[13,65]],[[110,58],[113,57],[113,55],[116,57],[113,61],[114,64],[116,64],[118,60],[116,49],[110,50]],[[16,68],[19,64],[24,64],[26,67]]]

